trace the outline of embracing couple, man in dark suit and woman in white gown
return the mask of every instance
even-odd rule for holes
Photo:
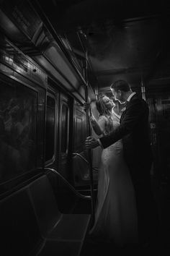
[[[151,243],[156,234],[156,203],[151,192],[152,153],[148,105],[118,80],[110,87],[115,100],[126,103],[117,116],[114,103],[102,95],[96,103],[99,120],[91,117],[98,140],[86,138],[86,148],[102,147],[94,236],[104,236],[118,246]]]

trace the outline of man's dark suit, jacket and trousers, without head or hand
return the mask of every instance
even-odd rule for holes
[[[117,140],[122,139],[125,161],[128,164],[135,187],[141,236],[149,234],[148,229],[156,210],[150,186],[152,153],[149,139],[148,114],[146,101],[138,98],[136,94],[133,95],[130,101],[127,102],[125,111],[122,113],[120,127],[99,139],[103,148],[107,148]],[[155,223],[151,225],[151,231],[153,231],[154,225]]]

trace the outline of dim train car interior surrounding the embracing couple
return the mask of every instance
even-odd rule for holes
[[[84,103],[98,119],[104,93],[121,114],[116,80],[149,106],[158,255],[169,255],[169,27],[164,0],[0,0],[0,255],[133,255],[89,236],[102,149],[85,148],[97,135]]]

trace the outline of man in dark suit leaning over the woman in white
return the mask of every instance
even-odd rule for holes
[[[125,161],[128,164],[138,210],[139,242],[153,242],[158,224],[156,203],[153,200],[150,182],[150,170],[153,161],[149,139],[148,105],[130,89],[128,82],[118,80],[110,89],[115,100],[126,103],[125,111],[120,118],[120,126],[109,135],[96,140],[86,138],[86,148],[109,145],[122,139]],[[114,218],[114,217],[113,217]]]

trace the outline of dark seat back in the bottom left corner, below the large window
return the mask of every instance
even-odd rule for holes
[[[30,255],[41,239],[27,187],[0,202],[0,255]]]

